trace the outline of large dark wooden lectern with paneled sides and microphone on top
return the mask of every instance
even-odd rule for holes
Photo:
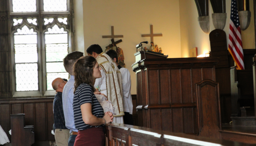
[[[167,58],[139,51],[135,58],[132,69],[136,73],[139,126],[195,135],[207,129],[203,126],[221,129],[219,84],[215,82],[218,57]]]

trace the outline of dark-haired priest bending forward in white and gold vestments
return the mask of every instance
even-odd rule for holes
[[[113,123],[124,123],[123,116],[123,93],[121,72],[113,60],[103,52],[101,46],[94,44],[86,50],[89,56],[93,56],[101,67],[101,78],[96,79],[94,87],[108,97],[113,107],[115,107],[115,115]]]

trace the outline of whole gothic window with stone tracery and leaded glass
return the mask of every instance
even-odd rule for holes
[[[73,0],[10,0],[12,95],[53,96],[68,78],[63,58],[74,50]]]

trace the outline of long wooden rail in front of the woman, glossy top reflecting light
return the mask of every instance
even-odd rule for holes
[[[106,146],[254,146],[252,144],[117,123],[107,124],[105,128]]]

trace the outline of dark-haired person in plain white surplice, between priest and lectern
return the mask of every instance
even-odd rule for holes
[[[121,77],[122,77],[122,90],[123,90],[123,104],[124,104],[124,111],[125,111],[125,116],[124,116],[124,123],[128,125],[133,125],[133,120],[132,120],[132,99],[131,99],[131,75],[128,71],[128,69],[121,67],[118,65],[118,56],[115,50],[108,50],[106,52],[108,56],[115,62],[115,64],[118,66],[118,69],[121,72]]]

